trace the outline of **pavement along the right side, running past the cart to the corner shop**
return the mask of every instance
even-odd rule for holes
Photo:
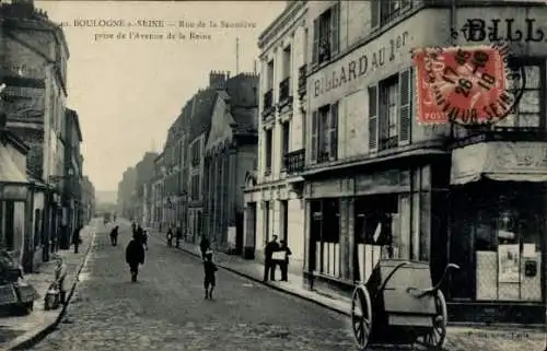
[[[159,239],[165,239],[165,233],[152,231],[151,234]],[[201,257],[198,245],[181,243],[181,249]],[[289,281],[263,282],[264,266],[245,260],[237,256],[214,253],[214,260],[219,267],[236,274],[264,283],[272,289],[283,291],[294,296],[302,297],[325,308],[351,316],[351,301],[345,296],[327,295],[303,286],[302,277],[289,273]],[[444,344],[450,351],[539,351],[545,349],[545,332],[543,328],[520,326],[459,326],[447,327]]]

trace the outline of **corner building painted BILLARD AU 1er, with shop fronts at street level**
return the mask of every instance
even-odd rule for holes
[[[443,285],[451,320],[542,323],[547,47],[526,38],[537,39],[546,11],[307,2],[306,283],[349,293],[382,257],[428,261],[437,282],[455,262]],[[529,72],[514,114],[484,129],[419,125],[410,50],[488,43],[496,23]]]

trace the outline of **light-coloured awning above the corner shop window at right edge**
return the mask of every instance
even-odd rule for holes
[[[547,142],[480,142],[452,153],[451,184],[481,178],[499,182],[547,182]]]

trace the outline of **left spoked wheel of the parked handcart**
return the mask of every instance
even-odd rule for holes
[[[372,327],[372,304],[369,291],[358,285],[351,297],[351,324],[360,350],[365,350]]]

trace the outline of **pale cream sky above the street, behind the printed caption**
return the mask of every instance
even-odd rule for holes
[[[70,51],[67,107],[80,116],[83,173],[96,190],[115,191],[124,171],[144,152],[161,151],[168,127],[186,101],[207,86],[211,70],[235,75],[236,38],[240,72],[254,70],[258,36],[284,1],[35,1],[35,7],[63,24]],[[82,26],[74,20],[125,25]],[[139,20],[165,21],[167,26],[144,27],[137,25]],[[181,27],[181,21],[203,21],[207,26]],[[219,26],[211,27],[210,21]],[[256,27],[223,28],[221,21]],[[164,39],[129,38],[129,32],[163,34]],[[170,32],[185,33],[186,39],[167,39]],[[189,32],[211,38],[189,39]]]

